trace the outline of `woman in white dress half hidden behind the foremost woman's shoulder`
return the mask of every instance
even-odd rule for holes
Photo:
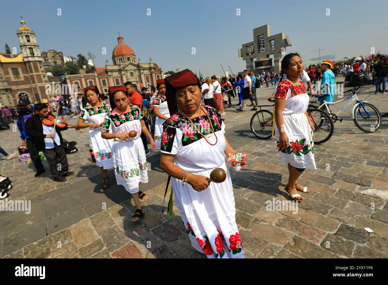
[[[163,79],[159,79],[156,81],[158,88],[158,95],[156,95],[152,99],[152,111],[155,114],[155,131],[154,131],[154,139],[156,148],[160,148],[160,136],[163,131],[162,124],[170,117],[170,112],[168,111],[167,100],[165,97],[166,87],[165,81]]]

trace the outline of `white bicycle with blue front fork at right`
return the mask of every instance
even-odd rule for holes
[[[361,87],[362,87],[362,85],[360,85],[359,87],[355,87],[353,89],[350,89],[348,91],[345,91],[344,93],[352,92],[353,95],[346,97],[344,99],[338,100],[336,102],[326,102],[324,96],[315,95],[315,97],[322,98],[322,100],[323,100],[322,105],[317,106],[317,109],[324,108],[322,110],[325,111],[325,108],[326,108],[326,112],[328,114],[330,114],[333,122],[336,122],[337,120],[342,122],[342,119],[338,119],[338,117],[337,117],[338,114],[340,114],[343,110],[345,110],[347,107],[349,107],[350,104],[352,104],[353,102],[357,102],[353,106],[352,113],[351,113],[354,123],[356,124],[357,128],[364,131],[365,133],[373,133],[373,132],[377,131],[381,126],[381,114],[380,114],[379,110],[376,108],[376,106],[374,106],[371,103],[368,103],[366,101],[363,102],[362,100],[359,100],[359,98],[357,97],[356,91]],[[350,99],[350,101],[347,102],[340,109],[340,111],[336,112],[335,114],[330,113],[328,105],[335,105],[335,104],[342,102],[343,100],[348,100],[348,99]]]

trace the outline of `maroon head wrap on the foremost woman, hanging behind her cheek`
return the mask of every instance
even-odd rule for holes
[[[170,76],[167,76],[165,78],[165,85],[165,96],[167,99],[168,110],[170,111],[170,115],[172,116],[178,111],[175,99],[175,93],[177,92],[177,90],[190,85],[199,86],[199,80],[197,76],[192,73],[191,70],[185,69]]]

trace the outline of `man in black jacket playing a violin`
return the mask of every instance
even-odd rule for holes
[[[68,171],[68,159],[62,145],[61,131],[68,128],[75,128],[74,124],[61,128],[59,126],[47,126],[43,124],[43,119],[49,117],[47,105],[43,103],[35,104],[35,115],[26,120],[26,134],[32,140],[34,146],[39,151],[43,151],[50,166],[51,174],[55,181],[64,182],[66,176],[73,175]]]

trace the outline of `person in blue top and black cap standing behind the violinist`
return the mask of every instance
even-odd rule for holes
[[[26,95],[27,97],[27,95]],[[28,98],[20,98],[18,107],[20,109],[19,114],[17,115],[17,128],[20,131],[20,138],[22,139],[22,144],[28,148],[29,155],[31,157],[32,163],[35,166],[36,173],[35,177],[38,177],[40,174],[45,172],[42,161],[40,160],[39,150],[36,149],[35,145],[31,141],[28,135],[26,135],[26,120],[34,115],[34,109],[31,107],[31,103]]]

